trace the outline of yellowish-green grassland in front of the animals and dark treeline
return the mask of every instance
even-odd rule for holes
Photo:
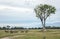
[[[0,30],[0,37],[12,37],[12,39],[43,39],[43,32],[40,30],[29,30],[28,33],[6,33]],[[45,32],[46,39],[60,39],[60,29],[48,29]]]

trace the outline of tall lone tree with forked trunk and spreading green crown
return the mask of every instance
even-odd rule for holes
[[[47,5],[47,4],[40,4],[38,5],[35,9],[35,13],[36,13],[36,17],[38,17],[41,22],[42,22],[42,26],[43,26],[43,39],[46,39],[45,37],[45,23],[46,23],[46,19],[51,15],[51,14],[55,14],[56,8],[51,6],[51,5]]]

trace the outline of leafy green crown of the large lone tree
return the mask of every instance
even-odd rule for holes
[[[51,14],[55,14],[55,7],[47,4],[40,4],[35,9],[36,16],[41,20],[47,19]]]

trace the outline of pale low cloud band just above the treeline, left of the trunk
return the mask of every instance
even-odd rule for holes
[[[38,22],[32,22],[32,23],[14,23],[14,24],[12,24],[12,23],[0,23],[0,26],[1,27],[3,27],[3,26],[7,26],[7,25],[10,25],[11,27],[15,27],[15,26],[17,26],[17,27],[40,27],[41,26],[41,24],[40,23],[38,23]]]

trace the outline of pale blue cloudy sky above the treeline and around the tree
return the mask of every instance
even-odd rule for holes
[[[39,4],[56,7],[55,14],[46,20],[46,26],[60,26],[60,0],[0,0],[0,26],[42,27],[34,8]]]

